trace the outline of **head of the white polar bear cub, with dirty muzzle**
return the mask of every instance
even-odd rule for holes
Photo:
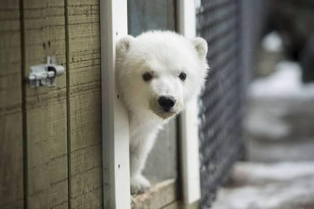
[[[207,74],[207,42],[170,31],[127,36],[116,45],[117,87],[129,110],[162,119],[180,113]]]

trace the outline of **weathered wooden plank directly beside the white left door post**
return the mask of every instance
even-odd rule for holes
[[[99,1],[67,2],[70,204],[71,208],[102,208]]]

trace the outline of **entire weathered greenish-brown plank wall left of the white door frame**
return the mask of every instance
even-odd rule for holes
[[[102,208],[99,1],[0,4],[0,208]],[[57,86],[30,66],[56,56]]]

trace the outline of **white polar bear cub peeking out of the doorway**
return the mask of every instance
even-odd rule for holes
[[[207,42],[171,31],[126,36],[116,45],[116,79],[129,112],[131,193],[150,182],[141,174],[158,131],[204,84]]]

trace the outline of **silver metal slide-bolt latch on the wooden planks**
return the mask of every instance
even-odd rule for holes
[[[62,65],[52,64],[48,58],[49,64],[31,66],[29,82],[31,88],[40,86],[56,86],[57,76],[64,73]]]

